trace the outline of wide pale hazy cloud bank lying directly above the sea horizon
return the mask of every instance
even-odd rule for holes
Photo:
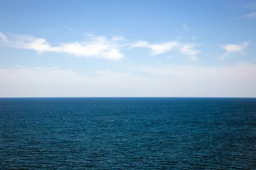
[[[138,65],[127,69],[96,71],[94,76],[58,67],[0,69],[0,97],[256,96],[256,65],[250,63],[218,67]]]

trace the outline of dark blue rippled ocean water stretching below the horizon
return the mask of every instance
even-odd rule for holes
[[[0,98],[0,169],[256,169],[256,99]]]

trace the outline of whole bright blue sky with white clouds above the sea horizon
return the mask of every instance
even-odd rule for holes
[[[0,0],[0,97],[256,97],[256,0]]]

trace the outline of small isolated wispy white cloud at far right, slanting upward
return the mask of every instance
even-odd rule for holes
[[[249,42],[243,42],[240,45],[236,44],[226,44],[226,45],[221,45],[221,48],[226,50],[226,52],[221,55],[220,59],[223,61],[225,57],[230,54],[230,53],[237,53],[237,52],[244,52],[244,49],[249,45]]]

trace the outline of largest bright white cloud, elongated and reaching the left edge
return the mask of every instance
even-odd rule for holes
[[[4,42],[4,45],[12,48],[30,49],[38,53],[58,52],[71,54],[76,57],[104,58],[110,60],[119,60],[124,57],[120,51],[122,45],[118,42],[123,40],[123,38],[113,37],[113,40],[108,40],[107,37],[95,36],[93,34],[87,37],[88,40],[86,42],[61,43],[58,46],[52,46],[44,38],[32,37],[30,35],[15,35],[13,40],[9,40],[3,33],[0,33],[0,38]]]

